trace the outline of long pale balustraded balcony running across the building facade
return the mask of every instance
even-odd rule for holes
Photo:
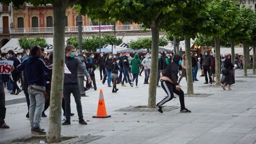
[[[114,25],[109,26],[83,26],[84,33],[95,33],[101,31],[114,31]],[[142,25],[117,25],[116,31],[143,31]],[[150,29],[146,29],[150,30]],[[65,27],[65,33],[78,33],[78,27]],[[11,28],[10,34],[53,34],[53,27],[41,28]]]

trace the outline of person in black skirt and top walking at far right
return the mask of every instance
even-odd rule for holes
[[[222,75],[221,77],[221,83],[223,84],[222,89],[226,90],[226,85],[228,85],[228,90],[231,90],[230,86],[235,83],[235,76],[233,73],[234,65],[231,62],[230,54],[227,56],[226,60],[224,61],[224,67],[228,69],[228,73],[226,75]]]

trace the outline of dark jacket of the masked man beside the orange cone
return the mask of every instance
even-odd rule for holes
[[[77,80],[78,68],[83,71],[86,77],[90,77],[88,71],[86,70],[85,64],[78,57],[71,58],[71,57],[65,56],[65,63],[67,65],[67,68],[71,72],[71,74],[66,74],[66,73],[64,74],[65,84],[78,83],[78,80]]]

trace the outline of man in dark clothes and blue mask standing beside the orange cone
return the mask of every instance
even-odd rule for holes
[[[75,57],[75,47],[72,45],[67,45],[65,48],[65,64],[69,69],[70,73],[64,74],[64,85],[63,85],[63,95],[65,99],[65,112],[66,121],[62,125],[70,125],[70,94],[72,93],[76,102],[76,109],[78,113],[79,124],[86,125],[87,123],[83,119],[83,111],[81,104],[80,89],[77,80],[78,68],[83,71],[84,75],[87,77],[87,81],[91,83],[91,77],[86,70],[85,64],[77,57]]]

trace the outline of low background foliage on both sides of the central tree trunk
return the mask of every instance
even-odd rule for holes
[[[150,50],[152,45],[152,38],[151,37],[140,37],[136,40],[132,40],[129,43],[129,47],[133,50],[139,49],[147,49]],[[168,40],[164,37],[159,38],[159,46],[166,46],[168,45]]]

